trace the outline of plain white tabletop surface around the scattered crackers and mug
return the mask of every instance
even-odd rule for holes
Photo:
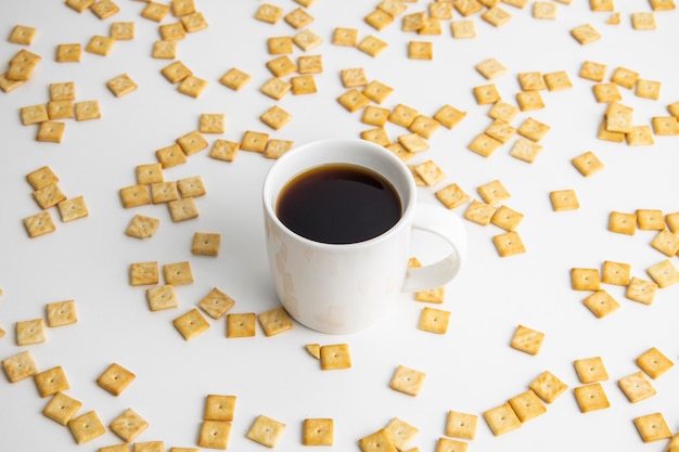
[[[286,13],[298,7],[291,0],[272,3]],[[324,40],[308,52],[323,57],[324,70],[316,78],[319,92],[289,94],[278,102],[294,119],[272,131],[258,119],[277,104],[258,91],[270,77],[265,64],[273,57],[267,53],[266,39],[296,31],[283,21],[276,25],[255,21],[258,1],[196,0],[209,27],[180,41],[178,59],[209,81],[198,99],[178,93],[163,78],[159,70],[169,61],[150,56],[158,39],[158,24],[140,16],[142,2],[119,0],[121,11],[106,21],[89,11],[78,14],[62,1],[4,2],[0,7],[0,62],[8,62],[22,49],[5,38],[16,24],[38,28],[28,50],[42,61],[28,83],[0,93],[0,287],[4,292],[0,325],[8,332],[0,338],[0,358],[27,349],[39,370],[62,365],[72,387],[67,393],[84,403],[80,413],[95,410],[107,425],[132,408],[150,423],[137,441],[162,440],[166,448],[196,447],[205,397],[222,393],[238,397],[230,450],[264,450],[245,438],[253,419],[264,414],[287,425],[278,450],[305,449],[300,431],[306,417],[334,418],[335,442],[328,450],[354,451],[359,450],[359,438],[398,416],[420,429],[412,445],[433,451],[444,436],[449,410],[479,415],[470,450],[664,450],[665,441],[643,443],[632,418],[662,412],[672,431],[679,429],[677,369],[653,380],[657,395],[637,404],[627,401],[616,382],[638,371],[635,359],[650,347],[657,347],[672,361],[679,359],[679,288],[661,289],[652,306],[643,306],[626,299],[623,287],[605,286],[622,306],[598,320],[581,304],[588,294],[571,288],[569,270],[600,268],[604,260],[617,260],[630,263],[635,275],[648,277],[645,269],[665,259],[649,245],[654,232],[626,236],[608,232],[606,225],[612,210],[679,210],[674,183],[678,138],[656,137],[654,145],[639,147],[598,140],[605,106],[595,102],[592,82],[578,77],[578,72],[582,62],[591,60],[607,65],[606,79],[615,67],[625,66],[642,78],[662,81],[658,101],[620,89],[623,103],[635,108],[639,125],[650,124],[652,116],[668,115],[666,106],[679,100],[679,67],[672,51],[679,42],[678,13],[657,12],[658,28],[640,31],[632,29],[630,13],[650,11],[646,2],[616,2],[622,13],[619,25],[606,25],[610,13],[593,13],[582,1],[559,3],[554,21],[533,18],[531,2],[524,9],[502,5],[512,14],[509,23],[496,28],[474,15],[471,20],[477,37],[456,40],[447,22],[440,36],[405,34],[400,18],[376,31],[362,21],[376,3],[319,0],[309,8],[315,17],[309,28]],[[408,12],[425,8],[424,2],[410,3]],[[460,14],[456,12],[454,18],[460,20]],[[80,63],[54,62],[57,43],[85,47],[92,35],[106,35],[115,21],[133,21],[136,38],[116,42],[105,57],[84,52]],[[172,21],[168,16],[164,23]],[[569,30],[585,23],[602,34],[600,41],[580,46],[571,37]],[[388,48],[371,57],[357,49],[333,46],[332,31],[337,26],[357,28],[360,38],[374,34],[388,42]],[[434,60],[409,60],[406,49],[411,39],[434,42]],[[302,54],[295,48],[293,57]],[[513,141],[489,158],[466,148],[490,124],[488,107],[477,105],[472,95],[473,87],[488,83],[474,69],[488,57],[497,57],[508,67],[494,82],[510,103],[515,103],[520,90],[518,73],[566,70],[573,81],[571,90],[543,92],[543,109],[522,113],[513,121],[517,127],[533,116],[551,126],[533,165],[509,155]],[[239,92],[217,81],[233,66],[253,76]],[[155,150],[196,129],[202,113],[227,117],[222,135],[206,135],[210,146],[218,138],[239,141],[245,130],[268,131],[271,137],[295,142],[358,137],[370,126],[360,122],[360,113],[349,114],[336,102],[345,91],[338,73],[349,67],[363,67],[369,79],[394,88],[383,104],[388,108],[402,103],[433,115],[444,104],[451,104],[467,112],[456,129],[440,128],[430,140],[431,150],[410,162],[432,158],[448,176],[435,188],[420,189],[420,196],[423,202],[436,203],[434,191],[457,182],[477,197],[476,186],[500,179],[512,194],[507,205],[525,215],[518,232],[527,253],[502,259],[491,242],[491,236],[502,231],[466,222],[469,263],[447,286],[445,304],[435,306],[451,311],[450,328],[444,336],[417,328],[424,305],[403,295],[394,300],[395,309],[383,323],[361,334],[328,336],[295,325],[270,338],[258,330],[255,338],[227,339],[223,320],[209,320],[212,327],[206,333],[184,341],[171,320],[193,308],[213,287],[236,300],[231,312],[259,313],[278,306],[268,277],[259,199],[262,178],[272,162],[241,152],[235,162],[227,164],[203,151],[187,165],[166,170],[166,180],[200,175],[207,188],[207,195],[197,199],[200,218],[182,223],[172,223],[165,206],[124,209],[118,190],[136,182],[134,167],[153,163]],[[118,99],[105,81],[121,73],[139,89]],[[49,83],[57,81],[75,81],[77,100],[98,100],[103,116],[82,122],[66,120],[61,144],[39,143],[35,141],[37,128],[22,126],[18,109],[47,102]],[[403,132],[387,126],[393,140]],[[602,172],[587,179],[569,163],[586,151],[593,151],[605,164]],[[37,214],[39,207],[31,199],[25,176],[44,165],[60,177],[60,186],[69,197],[85,197],[90,216],[62,223],[51,210],[57,230],[30,240],[22,219]],[[578,210],[552,211],[549,192],[561,189],[576,190]],[[463,215],[463,209],[456,214]],[[154,237],[139,241],[124,234],[134,214],[161,220]],[[195,231],[221,234],[219,257],[191,255]],[[417,238],[413,256],[423,261],[437,256],[436,243]],[[145,287],[129,285],[129,264],[146,260],[191,262],[195,282],[178,287],[178,309],[151,312]],[[676,257],[671,261],[679,263]],[[46,304],[64,299],[76,300],[77,324],[49,328],[46,344],[15,345],[15,322],[43,317]],[[509,347],[517,324],[546,334],[538,356]],[[353,369],[322,372],[304,349],[310,343],[349,344]],[[595,356],[603,358],[611,376],[603,382],[611,408],[581,414],[572,392],[579,385],[573,361]],[[137,374],[117,398],[94,383],[112,362]],[[399,364],[426,373],[418,397],[389,389]],[[568,390],[548,405],[542,416],[494,437],[482,413],[523,392],[545,370],[568,384]],[[0,377],[0,450],[97,450],[120,442],[106,432],[77,445],[65,427],[40,414],[48,400],[38,396],[30,379],[10,384]]]

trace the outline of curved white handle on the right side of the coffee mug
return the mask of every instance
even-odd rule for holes
[[[427,290],[450,282],[466,261],[466,230],[462,220],[440,206],[418,204],[413,229],[430,232],[452,247],[445,258],[428,266],[408,269],[402,292]]]

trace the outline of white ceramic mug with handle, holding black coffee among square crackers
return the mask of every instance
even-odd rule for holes
[[[383,234],[358,243],[326,244],[305,238],[277,217],[281,191],[296,176],[329,164],[350,164],[382,175],[396,189],[401,218]],[[466,257],[462,221],[443,206],[417,203],[410,169],[384,147],[360,139],[325,139],[296,146],[281,156],[264,189],[266,244],[277,294],[299,323],[323,333],[355,333],[379,321],[400,292],[445,285]],[[413,229],[450,244],[444,259],[408,269]]]

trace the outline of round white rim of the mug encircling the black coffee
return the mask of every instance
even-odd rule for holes
[[[276,175],[276,171],[278,170],[278,168],[283,166],[289,159],[295,158],[299,153],[304,153],[305,151],[309,148],[317,147],[324,143],[333,143],[333,145],[345,143],[347,146],[358,145],[364,148],[369,148],[371,150],[371,152],[376,152],[377,154],[381,155],[381,158],[388,160],[390,165],[393,165],[395,168],[399,170],[399,172],[403,177],[403,181],[406,182],[405,184],[406,193],[402,193],[403,185],[395,183],[395,181],[393,181],[392,178],[388,178],[384,175],[384,171],[375,170],[374,168],[369,168],[367,165],[360,164],[357,162],[348,162],[349,159],[347,160],[329,159],[329,160],[323,160],[323,162],[321,162],[322,159],[319,159],[318,162],[316,162],[316,164],[306,165],[302,169],[296,171],[295,173],[286,177],[282,186],[285,186],[291,180],[293,180],[296,176],[300,175],[302,172],[305,172],[311,168],[319,167],[322,165],[348,164],[348,165],[357,165],[357,166],[366,167],[372,171],[376,171],[382,177],[384,177],[387,181],[389,181],[389,183],[392,183],[392,185],[394,186],[394,189],[397,191],[399,195],[399,198],[401,201],[402,212],[401,212],[400,218],[394,225],[392,225],[389,229],[384,231],[382,234],[375,237],[366,240],[366,241],[347,243],[347,244],[334,244],[334,243],[318,242],[318,241],[307,238],[303,235],[299,235],[293,230],[291,230],[290,228],[287,228],[278,218],[278,215],[276,214],[276,202],[278,201],[278,194],[272,193],[273,189],[271,188],[271,185],[273,184],[272,179],[273,179],[273,176]],[[325,249],[331,249],[331,250],[355,250],[357,248],[368,247],[375,243],[387,240],[389,236],[394,235],[397,231],[403,228],[411,220],[413,212],[414,212],[414,206],[417,204],[417,199],[415,199],[417,186],[414,183],[414,179],[412,178],[410,170],[408,169],[406,164],[396,155],[394,155],[392,152],[384,148],[383,146],[376,143],[372,143],[370,141],[357,139],[357,138],[324,138],[324,139],[318,139],[318,140],[304,142],[291,148],[281,157],[279,157],[273,164],[273,166],[269,168],[269,171],[267,172],[265,177],[262,189],[261,189],[261,196],[262,196],[264,208],[268,218],[277,224],[279,230],[283,231],[284,233],[292,236],[293,238],[302,243],[305,243],[309,246],[315,246],[315,247],[320,247],[320,248],[325,248]]]

